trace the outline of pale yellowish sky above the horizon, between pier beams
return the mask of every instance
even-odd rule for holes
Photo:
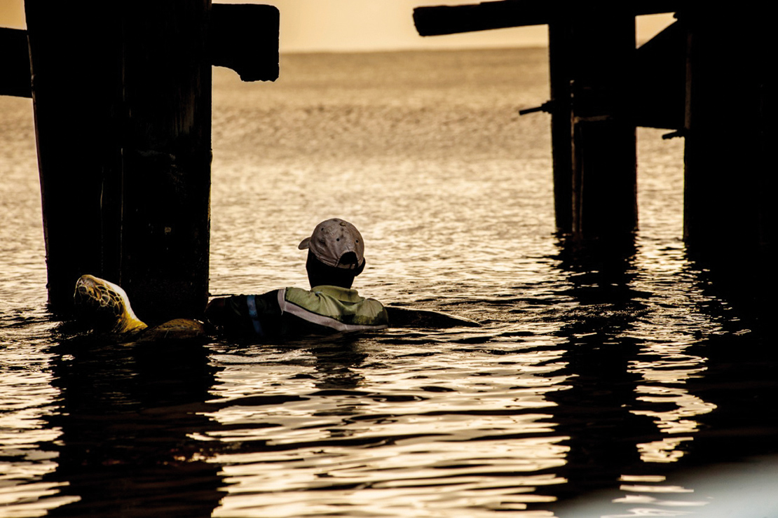
[[[225,0],[223,3],[276,5],[281,12],[279,46],[282,52],[532,47],[547,44],[546,26],[423,38],[416,33],[412,19],[414,7],[474,4],[478,0]],[[0,0],[0,26],[23,29],[23,4],[23,0]],[[649,39],[672,21],[671,15],[640,16],[638,41]]]

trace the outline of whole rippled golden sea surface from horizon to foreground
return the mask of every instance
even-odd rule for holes
[[[482,327],[74,339],[45,305],[32,103],[0,98],[0,516],[778,516],[774,342],[687,259],[681,139],[639,131],[634,248],[580,253],[548,116],[517,115],[545,50],[214,72],[212,294],[306,286],[297,243],[343,217],[362,294]]]

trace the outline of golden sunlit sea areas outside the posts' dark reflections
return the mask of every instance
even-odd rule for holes
[[[440,59],[459,61],[464,56],[468,67],[477,65],[482,71],[474,77],[489,83],[485,68],[493,66],[483,61],[486,55],[440,54],[429,61],[408,54],[401,56],[402,66],[392,70],[416,81],[420,69],[437,70]],[[545,64],[545,52],[532,55]],[[356,345],[338,344],[336,358],[331,350],[311,344],[279,348],[212,344],[209,361],[216,381],[205,404],[213,409],[202,412],[212,419],[208,426],[203,429],[195,420],[196,426],[184,430],[177,412],[170,417],[170,408],[152,406],[144,412],[152,415],[155,426],[159,421],[160,429],[180,430],[203,445],[202,451],[184,450],[173,458],[188,464],[211,463],[209,477],[219,471],[218,477],[208,480],[224,495],[213,516],[472,518],[503,511],[522,518],[551,518],[553,513],[531,506],[552,502],[552,495],[565,491],[585,492],[592,480],[610,484],[609,490],[618,493],[608,502],[629,506],[622,507],[619,516],[677,516],[689,506],[701,506],[699,495],[719,494],[706,492],[699,479],[685,483],[657,475],[672,464],[683,467],[677,461],[686,455],[690,442],[699,440],[700,416],[717,408],[692,388],[707,374],[708,358],[700,343],[720,329],[696,308],[696,301],[705,297],[699,293],[696,273],[689,273],[678,240],[680,155],[673,158],[667,151],[657,151],[675,165],[640,168],[643,206],[637,253],[626,266],[629,271],[617,276],[619,283],[626,279],[630,293],[640,295],[625,311],[610,311],[612,301],[607,297],[612,286],[599,287],[595,291],[602,304],[587,308],[571,290],[584,286],[585,280],[575,279],[581,274],[556,268],[556,259],[548,259],[558,252],[550,237],[548,124],[519,119],[513,106],[547,97],[547,74],[531,72],[543,82],[527,89],[522,82],[531,75],[520,64],[523,51],[518,55],[501,50],[492,57],[499,57],[500,66],[512,71],[504,76],[502,89],[484,96],[486,85],[456,92],[444,82],[440,88],[415,91],[435,97],[414,101],[419,106],[405,106],[414,91],[392,85],[393,74],[382,73],[375,88],[349,89],[354,71],[371,70],[363,59],[387,64],[387,59],[394,61],[389,54],[347,57],[358,60],[359,67],[343,74],[344,82],[336,88],[322,90],[315,86],[317,80],[295,82],[290,75],[293,83],[287,83],[287,89],[215,90],[214,289],[237,293],[286,283],[303,285],[299,238],[289,247],[279,247],[279,236],[262,232],[255,222],[276,221],[283,212],[284,233],[293,237],[331,210],[342,209],[342,186],[348,185],[349,217],[364,222],[372,237],[372,271],[360,280],[360,292],[381,301],[461,312],[486,325],[483,332],[389,330],[380,338],[359,339]],[[285,59],[295,67],[292,70],[318,67],[329,72],[340,66],[341,58]],[[456,82],[461,69],[459,64],[451,68]],[[4,119],[10,120],[5,101],[3,106]],[[30,120],[30,140],[30,106],[22,108],[23,117]],[[12,131],[5,134],[19,134],[17,126],[9,125]],[[338,137],[338,129],[346,134]],[[19,148],[16,141],[5,142],[0,141],[0,149]],[[372,143],[374,154],[369,159],[363,149],[356,149],[366,142]],[[680,141],[656,142],[663,149],[670,145],[682,152]],[[0,283],[0,317],[13,322],[29,318],[30,301],[45,297],[34,145],[24,155],[27,158],[16,151],[4,155],[10,158],[3,163],[12,167],[0,185],[0,205],[9,207],[5,222],[10,231],[5,236],[13,235],[5,242],[16,243],[16,249],[4,256],[7,275]],[[27,176],[30,181],[24,179]],[[677,203],[668,202],[670,184],[677,184]],[[289,203],[305,210],[288,210]],[[19,229],[24,238],[18,237]],[[36,261],[31,261],[33,256]],[[2,304],[9,301],[5,310]],[[631,311],[638,306],[640,311]],[[48,318],[41,316],[40,322]],[[626,358],[630,376],[613,385],[619,398],[602,398],[599,387],[584,392],[586,385],[581,384],[584,391],[556,399],[576,385],[575,366],[567,362],[564,350],[570,339],[562,329],[565,319],[583,324],[583,332],[572,338],[593,346],[581,349],[580,356],[605,344],[623,342],[629,349],[619,349],[624,356],[618,359]],[[623,327],[614,325],[602,332],[596,325],[612,320]],[[57,474],[61,461],[56,451],[49,451],[57,449],[50,445],[58,447],[65,439],[46,418],[66,407],[58,402],[61,395],[48,374],[47,358],[40,359],[40,367],[33,365],[34,354],[53,341],[51,325],[25,324],[19,329],[24,343],[33,341],[33,329],[40,329],[42,338],[16,356],[13,350],[3,351],[2,359],[19,365],[0,369],[4,412],[0,445],[5,448],[0,450],[4,454],[0,505],[35,516],[78,497],[61,495],[71,474],[66,464]],[[602,344],[597,343],[600,336]],[[3,342],[9,344],[17,342]],[[640,350],[634,352],[633,346]],[[618,368],[611,374],[625,374],[622,363]],[[593,373],[591,377],[600,381],[600,373]],[[4,399],[6,394],[14,399]],[[591,396],[602,405],[579,408],[580,396]],[[628,453],[637,452],[640,465],[619,458],[618,467],[609,471],[596,455],[593,461],[581,460],[585,454],[575,460],[574,454],[592,443],[596,449],[598,434],[603,433],[599,420],[612,424],[610,404],[617,399],[629,408],[615,408],[613,422],[626,412],[644,421],[634,435],[629,429],[625,431],[629,437],[621,437]],[[189,407],[182,408],[189,412]],[[195,408],[200,412],[202,406]],[[154,412],[146,412],[149,409]],[[87,416],[88,412],[86,408]],[[64,415],[62,422],[78,417]],[[721,433],[731,433],[735,425],[739,423],[728,424]],[[605,438],[606,446],[609,439]],[[78,440],[75,444],[78,447]],[[131,444],[144,446],[142,441]],[[630,471],[619,478],[633,468],[651,475]],[[84,478],[103,474],[83,470]],[[574,480],[573,475],[580,478]],[[40,481],[45,476],[53,481]],[[199,491],[202,478],[188,476],[191,482],[182,488]],[[81,494],[89,498],[87,492]],[[695,498],[673,502],[674,495]],[[177,495],[177,503],[190,496]]]

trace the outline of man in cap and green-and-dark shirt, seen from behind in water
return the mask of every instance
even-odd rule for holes
[[[310,290],[219,297],[209,302],[205,318],[224,332],[265,339],[388,327],[384,306],[351,287],[365,268],[365,245],[354,225],[338,218],[322,221],[298,248],[308,250]]]

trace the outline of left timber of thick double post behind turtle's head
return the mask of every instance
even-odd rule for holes
[[[107,207],[115,207],[108,190],[121,175],[114,123],[121,101],[121,26],[112,2],[26,0],[25,9],[49,306],[67,312],[80,275],[115,280],[117,274],[103,268],[112,255],[103,239],[117,224]]]

